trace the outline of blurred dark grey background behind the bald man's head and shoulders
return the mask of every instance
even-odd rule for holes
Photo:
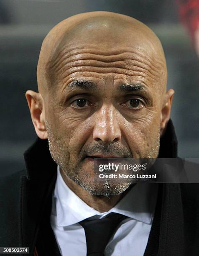
[[[23,169],[23,152],[36,139],[25,92],[37,90],[36,66],[43,38],[59,21],[106,10],[146,23],[160,38],[175,90],[172,120],[179,156],[199,156],[199,58],[175,0],[0,0],[0,177]]]

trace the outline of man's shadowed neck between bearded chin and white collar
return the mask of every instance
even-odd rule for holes
[[[80,187],[77,183],[72,181],[67,175],[64,174],[60,168],[60,173],[66,185],[87,205],[94,208],[98,212],[107,212],[119,202],[124,195],[126,195],[128,189],[120,195],[114,195],[105,197],[102,195],[92,195],[87,190]]]

